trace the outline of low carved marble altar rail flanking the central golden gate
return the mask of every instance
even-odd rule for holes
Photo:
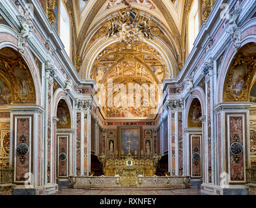
[[[121,184],[121,177],[106,176],[70,176],[69,187],[72,188],[127,188]],[[153,176],[137,177],[136,185],[129,188],[189,188],[190,176]]]

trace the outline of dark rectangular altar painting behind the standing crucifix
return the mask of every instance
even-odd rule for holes
[[[121,128],[120,129],[121,156],[139,156],[139,128]]]

